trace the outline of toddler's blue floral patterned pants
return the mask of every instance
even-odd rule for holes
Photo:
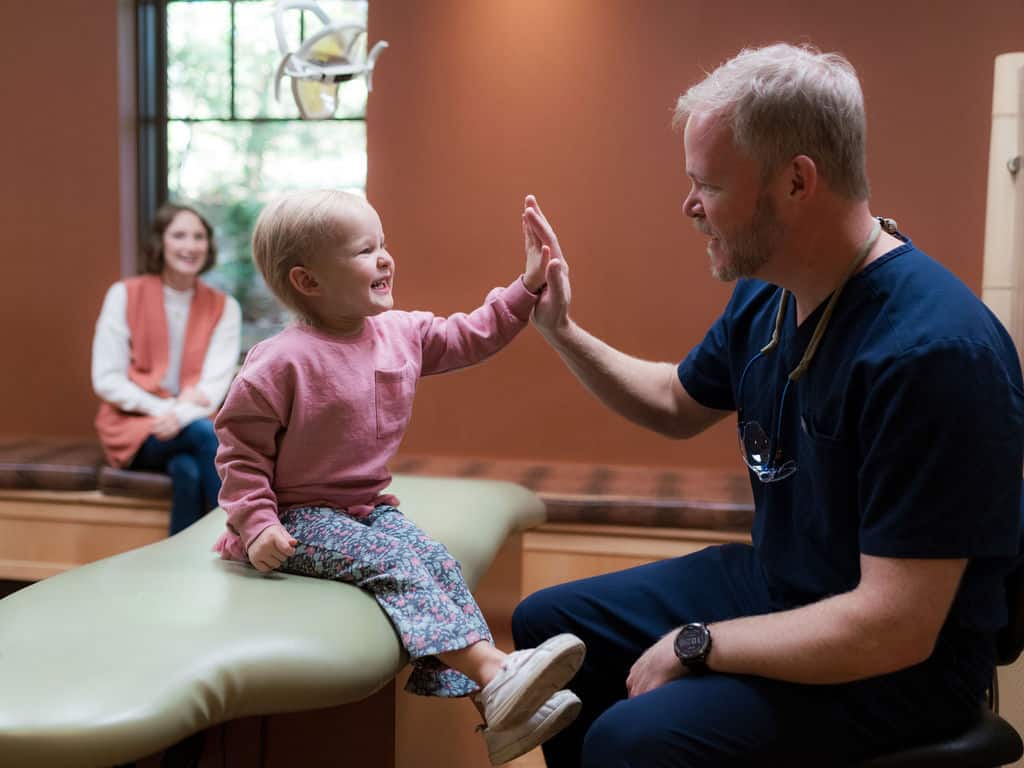
[[[436,657],[481,640],[494,642],[462,566],[444,545],[389,505],[364,518],[330,507],[301,507],[281,513],[281,522],[299,542],[283,571],[354,584],[377,599],[412,658],[406,690],[465,696],[478,689]]]

